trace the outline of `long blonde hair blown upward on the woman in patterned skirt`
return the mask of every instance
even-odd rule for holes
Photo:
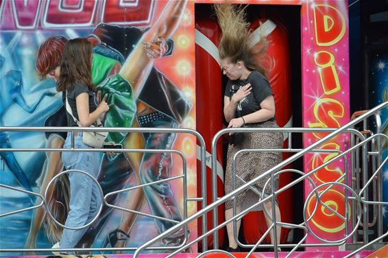
[[[245,7],[230,3],[214,5],[219,26],[221,27],[221,40],[219,41],[219,57],[230,58],[232,63],[243,61],[247,69],[256,70],[267,76],[268,68],[264,64],[269,58],[267,54],[267,40],[260,38],[260,42],[250,48],[249,40],[251,31],[250,23],[245,20]]]

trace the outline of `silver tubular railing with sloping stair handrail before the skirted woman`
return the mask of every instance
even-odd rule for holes
[[[213,233],[214,243],[215,243],[214,250],[217,250],[218,249],[218,246],[217,246],[217,244],[218,244],[218,233],[217,233],[217,231],[219,230],[219,228],[221,228],[223,226],[226,226],[226,224],[232,222],[233,220],[237,220],[237,219],[241,218],[241,216],[243,214],[247,213],[247,211],[249,211],[253,207],[256,207],[257,205],[263,204],[267,200],[274,199],[274,196],[278,195],[282,191],[285,191],[286,189],[289,189],[289,187],[299,183],[300,181],[304,180],[305,178],[307,179],[308,176],[311,176],[315,171],[317,171],[317,169],[322,169],[323,167],[329,165],[330,163],[332,163],[334,161],[337,161],[338,159],[341,159],[341,158],[345,157],[346,155],[351,154],[352,152],[354,152],[355,150],[357,150],[360,147],[363,148],[363,151],[365,153],[366,152],[366,148],[364,146],[369,141],[376,140],[376,139],[381,139],[381,138],[386,138],[387,139],[388,138],[387,135],[381,134],[381,133],[374,134],[372,137],[369,137],[368,139],[365,139],[363,137],[363,134],[361,134],[357,130],[352,129],[356,124],[359,124],[359,122],[363,121],[364,119],[367,119],[367,117],[369,117],[369,116],[378,114],[378,112],[380,110],[382,110],[383,108],[387,108],[387,106],[388,106],[388,102],[380,104],[380,105],[376,106],[375,108],[373,108],[372,110],[367,111],[366,113],[364,113],[360,117],[357,117],[353,121],[350,121],[350,123],[346,124],[345,126],[342,126],[341,128],[337,128],[337,129],[334,129],[334,128],[333,129],[324,128],[322,130],[318,130],[317,128],[314,128],[314,130],[317,130],[317,131],[324,132],[325,130],[331,130],[332,132],[330,132],[328,135],[326,135],[326,137],[323,137],[322,139],[319,139],[315,143],[311,144],[307,148],[305,148],[303,150],[300,150],[300,152],[298,152],[296,154],[293,154],[293,156],[290,156],[288,159],[282,161],[281,163],[279,163],[275,167],[269,169],[267,172],[265,172],[261,176],[258,176],[257,178],[254,178],[250,182],[246,183],[245,185],[243,185],[243,186],[241,186],[241,187],[239,187],[237,189],[234,189],[234,191],[232,191],[231,193],[228,193],[226,196],[223,196],[222,198],[218,198],[217,197],[217,190],[213,189],[213,201],[214,202],[212,204],[208,205],[206,208],[204,208],[204,209],[202,209],[200,211],[197,211],[197,213],[193,214],[190,218],[187,218],[186,220],[183,220],[179,224],[173,226],[172,228],[169,228],[169,230],[165,231],[165,233],[162,233],[162,234],[158,235],[158,237],[155,237],[154,239],[151,239],[148,242],[146,242],[145,244],[143,244],[142,246],[140,246],[136,250],[136,252],[134,253],[134,257],[138,257],[138,254],[141,253],[142,250],[147,248],[147,246],[150,246],[151,244],[154,244],[156,241],[162,239],[163,237],[166,237],[167,235],[169,235],[170,233],[172,233],[173,231],[178,229],[180,226],[182,226],[184,224],[188,224],[188,223],[192,222],[193,220],[195,220],[195,219],[197,219],[197,218],[199,218],[201,216],[204,216],[209,211],[213,211],[213,225],[215,225],[215,227],[212,230],[210,230],[210,231],[204,233],[203,235],[197,237],[197,239],[193,240],[192,242],[190,242],[190,243],[186,244],[185,246],[181,247],[179,250],[175,250],[175,252],[171,253],[168,257],[172,257],[173,255],[179,253],[181,250],[189,248],[189,246],[191,246],[192,244],[195,244],[196,242],[199,242],[200,240],[204,239],[204,237],[207,237],[208,235],[210,235],[212,233]],[[252,129],[252,128],[228,128],[228,129],[224,129],[224,130],[221,130],[221,131],[217,132],[217,134],[213,138],[213,142],[212,142],[212,169],[213,169],[212,182],[213,182],[213,187],[215,185],[217,185],[217,181],[216,181],[216,179],[217,179],[217,170],[216,170],[217,169],[217,166],[216,166],[217,160],[215,158],[215,157],[217,157],[217,148],[215,148],[215,147],[216,147],[217,141],[221,137],[221,135],[229,133],[229,132],[284,132],[284,131],[287,131],[287,130],[289,130],[289,132],[298,132],[298,131],[299,132],[306,132],[306,131],[311,130],[311,129],[309,129],[309,128],[272,128],[272,129],[264,129],[264,128],[256,128],[256,129]],[[262,198],[257,204],[254,204],[253,207],[250,207],[249,209],[247,209],[245,211],[242,211],[240,214],[234,215],[232,218],[230,218],[230,220],[226,220],[225,222],[223,222],[221,224],[218,223],[217,207],[220,204],[222,204],[223,202],[226,202],[226,200],[232,200],[232,198],[234,198],[234,196],[236,196],[238,193],[241,193],[242,191],[250,189],[253,185],[258,183],[258,181],[261,178],[265,178],[267,176],[270,176],[271,180],[273,182],[273,180],[274,180],[273,178],[274,178],[274,176],[276,174],[279,174],[279,173],[282,173],[282,172],[286,171],[286,170],[284,170],[284,171],[280,170],[280,169],[282,169],[282,167],[284,167],[286,165],[289,165],[290,163],[292,163],[293,161],[296,161],[297,159],[300,159],[302,156],[304,156],[304,154],[314,152],[315,150],[317,150],[316,148],[319,147],[319,145],[322,145],[326,141],[332,139],[332,137],[336,137],[337,135],[339,135],[341,133],[347,133],[347,132],[353,132],[356,135],[358,134],[358,136],[361,139],[363,139],[363,140],[360,141],[357,144],[352,145],[351,148],[349,148],[348,150],[343,151],[341,154],[338,154],[334,158],[330,159],[330,161],[328,161],[328,162],[326,162],[326,163],[324,163],[322,165],[319,165],[319,167],[316,167],[316,169],[313,169],[311,172],[308,172],[308,173],[299,172],[300,174],[303,174],[303,176],[301,176],[297,180],[294,180],[293,182],[291,182],[288,185],[282,187],[281,189],[278,189],[277,191],[274,191],[274,189],[273,189],[273,192],[271,193],[271,195],[269,195],[269,196],[267,196],[265,198]],[[256,150],[256,151],[258,151],[258,150]],[[376,172],[374,172],[373,176],[376,176],[376,174],[378,174],[381,171],[383,165],[385,163],[387,163],[387,160],[388,159],[385,159],[385,161],[383,161],[381,163],[381,165],[378,167]],[[352,160],[352,163],[353,162],[354,161]],[[352,165],[352,167],[354,167],[354,166]],[[338,180],[341,180],[343,177],[346,180],[347,176],[341,176],[341,178],[339,178]],[[292,250],[291,250],[291,252],[289,252],[287,257],[289,257],[299,247],[316,246],[315,244],[302,244],[302,243],[305,241],[305,239],[307,238],[309,233],[311,233],[314,237],[318,237],[317,235],[315,235],[313,233],[313,231],[311,231],[311,228],[308,228],[308,222],[311,220],[311,218],[313,217],[315,211],[317,210],[317,203],[318,202],[320,202],[322,205],[324,205],[324,207],[326,209],[328,209],[329,211],[331,211],[333,214],[339,216],[342,220],[344,220],[345,226],[347,226],[347,224],[349,222],[348,211],[346,210],[345,211],[345,216],[342,216],[341,214],[337,213],[337,211],[333,210],[331,207],[329,207],[328,205],[324,204],[322,202],[322,200],[320,200],[320,198],[319,198],[319,196],[322,196],[322,194],[324,194],[326,191],[328,191],[328,189],[330,189],[330,187],[332,187],[334,185],[339,185],[339,186],[343,187],[343,189],[345,189],[345,196],[347,197],[347,200],[349,200],[351,202],[355,202],[355,204],[359,207],[359,209],[358,209],[359,214],[357,216],[358,220],[357,220],[357,223],[356,223],[357,225],[359,225],[361,223],[361,211],[362,211],[361,204],[377,204],[377,205],[388,204],[387,202],[371,202],[371,201],[368,201],[367,198],[365,198],[365,195],[367,193],[367,186],[370,185],[372,180],[373,180],[373,178],[369,178],[369,180],[367,180],[367,183],[365,183],[363,189],[361,189],[361,191],[359,191],[359,192],[354,191],[354,189],[349,187],[348,184],[343,184],[343,183],[339,183],[339,182],[324,183],[322,185],[319,185],[318,187],[315,187],[313,189],[313,191],[311,191],[311,194],[315,193],[315,195],[316,195],[316,205],[315,205],[315,209],[314,209],[313,213],[310,215],[309,218],[306,218],[306,216],[305,216],[306,203],[304,205],[304,222],[302,224],[298,224],[297,225],[297,224],[287,224],[287,223],[282,223],[282,222],[276,222],[276,218],[275,218],[275,216],[273,214],[273,217],[272,217],[273,218],[273,220],[272,220],[273,223],[269,227],[269,229],[267,230],[265,235],[267,235],[271,229],[276,228],[277,225],[284,226],[284,227],[302,228],[304,231],[306,231],[306,235],[304,235],[304,237],[302,238],[302,240],[298,244],[281,244],[281,245],[279,245],[280,247],[292,247]],[[326,186],[327,186],[327,188],[324,191],[322,191],[321,193],[319,193],[317,191],[319,189],[319,187],[326,187]],[[352,193],[353,196],[348,197],[348,193],[349,192]],[[310,196],[311,196],[311,194],[310,194]],[[345,207],[346,206],[347,205],[345,205]],[[353,206],[355,206],[355,205],[353,205]],[[365,211],[363,211],[363,214],[365,215]],[[320,239],[323,242],[326,242],[325,244],[320,244],[320,246],[340,246],[341,244],[344,244],[346,242],[346,240],[355,231],[356,231],[356,227],[352,228],[352,231],[350,233],[348,233],[347,235],[345,235],[345,237],[343,237],[343,239],[339,239],[339,240],[336,240],[336,241],[328,241],[326,239]],[[388,232],[384,233],[382,235],[382,237],[385,237],[386,235],[388,235]],[[378,239],[382,239],[382,237],[378,237]],[[256,245],[252,248],[251,252],[247,254],[247,257],[254,251],[254,249],[256,248],[256,246],[258,246],[258,244],[262,241],[262,239],[263,239],[263,237],[261,237],[261,239],[259,239],[258,243],[256,243]],[[375,239],[374,242],[378,241],[378,239]],[[276,248],[276,247],[278,247],[278,243],[275,242],[273,246],[275,247],[274,248],[275,255],[276,255],[276,257],[278,257],[278,251],[277,251],[277,248]],[[365,248],[366,246],[369,246],[369,244],[365,244],[365,246],[363,246],[363,248]],[[360,248],[359,250],[362,250],[363,248]],[[357,250],[357,251],[359,251],[359,250]],[[350,255],[353,255],[353,254],[354,253],[352,253]],[[350,257],[350,255],[348,255],[347,257]]]

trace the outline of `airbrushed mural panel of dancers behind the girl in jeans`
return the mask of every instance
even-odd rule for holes
[[[62,96],[56,93],[58,49],[71,38],[93,44],[93,83],[96,91],[109,91],[114,103],[105,126],[195,128],[194,4],[192,1],[42,0],[0,1],[0,126],[64,126]],[[149,36],[154,27],[162,35]],[[125,79],[125,63],[135,62],[132,51],[144,48],[151,68],[144,82],[133,84],[136,109],[125,103],[125,92],[114,88],[114,75]],[[130,82],[132,83],[132,82]],[[136,111],[136,113],[134,113]],[[130,113],[134,113],[133,124]],[[126,114],[126,115],[125,115]],[[127,116],[128,115],[128,116]],[[66,135],[43,132],[1,132],[1,148],[62,148]],[[187,158],[188,196],[196,196],[195,137],[188,134],[110,134],[110,141],[125,148],[174,149]],[[104,194],[140,183],[182,174],[182,159],[171,154],[101,152],[98,181]],[[49,180],[65,168],[59,152],[1,152],[0,183],[45,193]],[[49,188],[49,207],[55,214],[68,211],[66,178]],[[136,247],[196,211],[184,211],[182,180],[149,185],[110,196],[110,204],[137,213],[104,207],[78,247]],[[38,200],[11,189],[0,189],[1,213],[32,207]],[[138,212],[145,215],[138,215]],[[187,213],[187,214],[186,214]],[[153,218],[147,216],[152,215]],[[58,218],[64,221],[65,218]],[[196,225],[189,226],[190,238]],[[60,228],[43,209],[0,218],[1,248],[50,248]],[[179,246],[180,230],[156,246]],[[159,251],[160,253],[160,251]]]

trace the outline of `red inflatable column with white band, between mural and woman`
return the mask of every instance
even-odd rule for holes
[[[196,17],[195,23],[195,99],[197,102],[197,131],[202,134],[206,143],[206,156],[211,153],[213,136],[223,128],[223,92],[222,75],[219,66],[218,49],[215,42],[219,42],[221,29],[218,23],[209,16]],[[198,153],[199,154],[199,153]],[[223,196],[223,148],[222,143],[217,145],[217,195]],[[197,165],[197,193],[201,196],[201,169]],[[211,162],[206,162],[207,204],[213,202],[213,185],[211,181]],[[199,209],[199,207],[198,207]],[[208,229],[213,228],[213,212],[207,215]],[[225,207],[218,209],[218,222],[225,221]],[[198,235],[202,234],[202,219],[198,222]],[[219,246],[223,244],[225,227],[219,230]],[[202,242],[198,243],[199,246]],[[208,237],[209,247],[213,246],[213,235]]]

